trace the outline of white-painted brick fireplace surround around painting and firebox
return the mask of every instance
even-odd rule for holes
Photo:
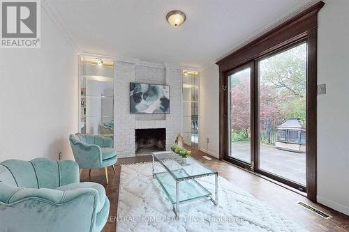
[[[135,129],[166,129],[166,150],[181,133],[181,68],[138,61],[116,61],[114,146],[118,157],[135,156]],[[170,114],[130,114],[130,82],[170,86]]]

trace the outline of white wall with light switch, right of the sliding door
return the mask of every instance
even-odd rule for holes
[[[318,15],[318,202],[349,215],[349,1]]]

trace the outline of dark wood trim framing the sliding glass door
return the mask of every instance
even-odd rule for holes
[[[287,47],[299,40],[306,40],[308,47],[307,59],[307,96],[306,96],[306,185],[307,196],[311,201],[316,201],[316,98],[317,98],[317,31],[318,31],[318,12],[325,3],[320,1],[315,5],[304,10],[299,15],[284,22],[275,29],[265,33],[259,38],[249,42],[236,52],[226,56],[218,61],[219,65],[219,157],[224,159],[228,155],[228,91],[223,90],[223,86],[228,86],[227,74],[229,71],[253,62],[253,84],[251,91],[257,87],[258,78],[258,62],[266,54],[277,51],[278,49]],[[252,95],[251,95],[252,97]],[[258,104],[256,96],[251,105]],[[254,107],[251,114],[258,115]],[[253,127],[258,128],[257,117],[254,117]],[[251,130],[252,131],[252,130]],[[252,137],[253,135],[251,135]],[[253,148],[258,150],[258,141],[253,139]],[[258,162],[258,160],[254,160]],[[251,167],[253,169],[253,167]]]

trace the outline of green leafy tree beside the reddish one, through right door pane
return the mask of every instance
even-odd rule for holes
[[[270,85],[279,98],[283,121],[306,121],[306,43],[260,61],[260,84]]]

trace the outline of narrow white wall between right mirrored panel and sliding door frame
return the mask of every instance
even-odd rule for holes
[[[218,65],[200,71],[199,139],[200,150],[219,157]],[[207,144],[207,138],[209,143]]]

